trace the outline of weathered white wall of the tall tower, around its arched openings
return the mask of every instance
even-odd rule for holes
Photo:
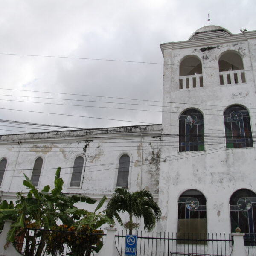
[[[173,142],[163,136],[161,154],[166,161],[160,163],[159,203],[163,215],[158,229],[177,232],[179,197],[188,189],[197,189],[207,199],[207,232],[230,233],[230,196],[238,189],[256,192],[256,151],[255,147],[226,149],[223,113],[229,105],[243,105],[249,110],[255,134],[255,32],[161,47],[166,64],[163,134],[173,134]],[[246,83],[220,85],[218,60],[225,51],[238,52],[242,57]],[[201,60],[203,87],[179,89],[179,65],[188,55]],[[179,152],[179,116],[187,108],[203,113],[204,151]]]

